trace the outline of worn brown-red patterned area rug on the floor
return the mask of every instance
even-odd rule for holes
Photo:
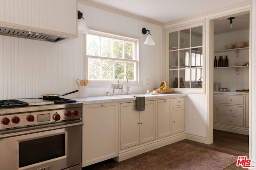
[[[223,170],[237,156],[180,143],[111,170]]]

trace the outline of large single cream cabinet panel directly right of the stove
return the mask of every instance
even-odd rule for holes
[[[85,104],[82,166],[118,156],[118,102]]]

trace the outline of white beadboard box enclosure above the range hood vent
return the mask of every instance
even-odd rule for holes
[[[0,0],[0,4],[2,22],[77,35],[76,0]]]

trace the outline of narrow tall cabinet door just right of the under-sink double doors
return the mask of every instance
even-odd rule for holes
[[[157,139],[172,135],[172,99],[157,100]]]

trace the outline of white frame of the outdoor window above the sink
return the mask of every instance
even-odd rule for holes
[[[86,77],[86,79],[88,79],[88,59],[89,58],[95,58],[95,59],[106,59],[106,60],[116,60],[116,61],[128,61],[128,62],[135,62],[136,63],[136,67],[135,69],[135,73],[134,73],[134,80],[128,80],[127,84],[139,84],[140,79],[139,79],[139,62],[140,62],[140,56],[139,56],[139,44],[140,44],[140,40],[134,37],[126,37],[123,35],[117,35],[117,34],[113,34],[113,33],[105,33],[105,32],[101,32],[101,31],[95,31],[95,30],[90,30],[90,35],[97,35],[97,36],[102,36],[102,37],[108,37],[108,38],[113,38],[113,39],[120,39],[120,40],[124,40],[124,41],[130,41],[134,43],[134,60],[126,60],[126,59],[115,59],[115,58],[107,58],[107,57],[95,57],[95,56],[89,56],[86,55],[86,34],[84,35],[84,55],[85,55],[85,68],[84,68],[84,75]],[[98,84],[100,87],[102,87],[102,85],[109,85],[110,83],[116,83],[116,79],[115,80],[89,80],[90,84]],[[120,80],[120,83],[126,83],[126,80]],[[95,86],[97,87],[97,86]]]

